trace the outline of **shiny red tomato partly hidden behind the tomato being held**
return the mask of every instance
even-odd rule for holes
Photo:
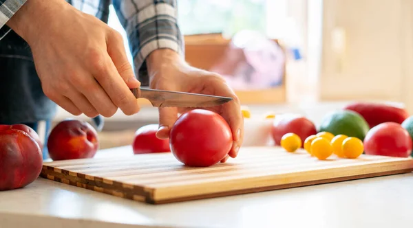
[[[169,139],[158,139],[156,131],[158,131],[158,124],[148,124],[136,130],[132,143],[135,155],[151,152],[171,152]]]

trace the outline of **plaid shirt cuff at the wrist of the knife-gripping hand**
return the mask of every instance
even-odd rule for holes
[[[26,1],[27,0],[0,0],[0,40],[10,32],[10,27],[8,27],[6,23]]]

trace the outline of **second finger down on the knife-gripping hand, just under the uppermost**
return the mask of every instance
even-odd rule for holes
[[[107,53],[96,54],[92,59],[93,75],[105,90],[112,102],[119,107],[125,115],[138,113],[139,105],[129,87],[120,77],[114,62]]]

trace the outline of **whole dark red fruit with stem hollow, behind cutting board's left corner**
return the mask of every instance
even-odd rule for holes
[[[54,161],[91,158],[98,150],[98,133],[85,121],[66,119],[50,132],[47,148]]]

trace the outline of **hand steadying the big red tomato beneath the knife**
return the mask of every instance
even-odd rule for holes
[[[147,66],[152,89],[165,89],[190,93],[203,93],[231,97],[233,100],[208,108],[224,117],[233,133],[233,146],[229,156],[236,157],[244,137],[244,119],[241,113],[240,100],[233,90],[225,83],[224,79],[216,73],[203,71],[187,65],[176,52],[170,49],[158,49],[147,58]],[[165,139],[169,137],[169,131],[178,113],[184,113],[189,109],[160,108],[160,128],[157,137]],[[222,162],[225,162],[227,156]]]

